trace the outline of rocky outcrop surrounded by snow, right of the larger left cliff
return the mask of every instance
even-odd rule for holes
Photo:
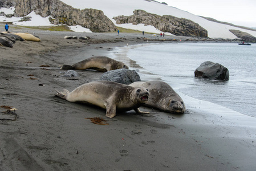
[[[170,32],[181,36],[208,37],[208,32],[197,23],[185,18],[177,18],[172,15],[156,15],[143,10],[133,11],[131,16],[114,17],[117,24],[132,23],[133,25],[144,24],[156,27],[162,32]]]

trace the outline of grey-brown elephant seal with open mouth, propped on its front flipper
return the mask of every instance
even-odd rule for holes
[[[55,89],[56,90],[56,89]],[[57,90],[56,90],[57,91]],[[135,110],[137,113],[149,113],[140,111],[139,107],[148,101],[149,92],[144,87],[131,87],[125,84],[97,81],[83,84],[72,92],[63,89],[57,91],[56,96],[70,102],[82,102],[97,105],[106,109],[106,117],[116,116],[116,111]]]

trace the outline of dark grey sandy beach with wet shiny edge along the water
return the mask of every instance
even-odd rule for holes
[[[151,113],[129,111],[108,119],[104,109],[54,96],[55,88],[72,91],[102,74],[60,77],[60,66],[75,63],[72,56],[83,52],[86,59],[127,43],[146,43],[137,39],[141,35],[10,31],[34,32],[42,42],[0,47],[0,105],[16,108],[19,116],[13,120],[0,108],[0,170],[255,170],[256,128],[239,125],[238,117],[229,120],[193,107],[184,115],[140,107]],[[70,34],[91,39],[64,39]],[[93,117],[106,122],[94,124],[88,119]]]

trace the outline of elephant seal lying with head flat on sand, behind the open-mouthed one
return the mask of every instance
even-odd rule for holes
[[[186,108],[181,97],[167,83],[152,80],[148,82],[134,82],[129,84],[132,87],[145,87],[149,89],[151,96],[145,104],[147,107],[160,109],[169,113],[184,113]]]

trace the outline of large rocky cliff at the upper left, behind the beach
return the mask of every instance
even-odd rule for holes
[[[116,30],[116,26],[104,15],[103,11],[74,9],[59,0],[0,0],[0,7],[10,6],[15,7],[15,17],[24,17],[31,11],[35,11],[42,17],[51,15],[50,22],[54,25],[80,25],[90,28],[92,32]]]

